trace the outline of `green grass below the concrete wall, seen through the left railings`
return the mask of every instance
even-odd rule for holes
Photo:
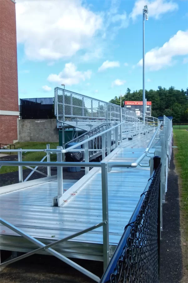
[[[17,142],[15,143],[15,148],[23,149],[45,149],[47,142]],[[56,148],[59,145],[58,142],[50,142],[50,148]],[[18,154],[17,152],[11,154]],[[26,152],[22,153],[23,161],[40,161],[46,153],[44,152]],[[56,161],[56,154],[50,154],[50,161]],[[47,161],[46,159],[44,161]],[[23,167],[23,169],[25,169]],[[9,173],[13,171],[18,171],[17,166],[2,166],[0,169],[0,174]]]

